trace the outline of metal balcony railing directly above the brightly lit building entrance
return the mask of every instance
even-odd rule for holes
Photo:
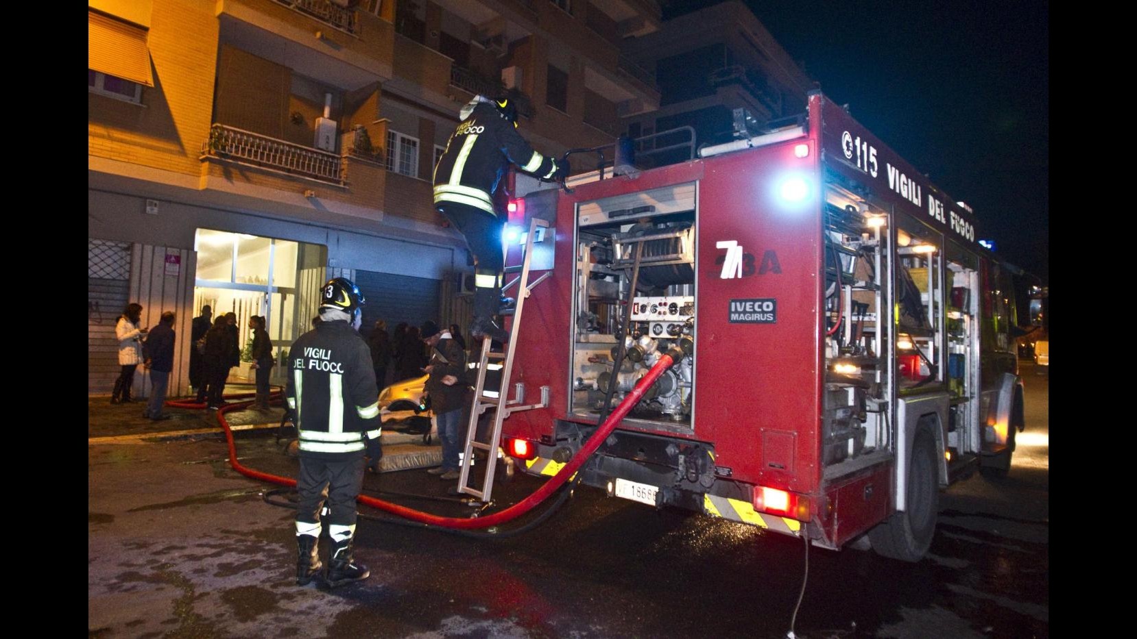
[[[210,127],[201,155],[345,186],[340,155],[221,124]]]

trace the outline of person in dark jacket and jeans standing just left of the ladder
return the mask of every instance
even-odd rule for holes
[[[438,422],[438,438],[442,443],[442,465],[426,472],[438,474],[440,479],[457,479],[458,449],[462,446],[458,429],[462,409],[468,403],[466,385],[459,381],[466,370],[466,352],[449,330],[440,331],[432,321],[423,322],[422,335],[431,350],[430,363],[423,369],[430,375],[426,394]]]

